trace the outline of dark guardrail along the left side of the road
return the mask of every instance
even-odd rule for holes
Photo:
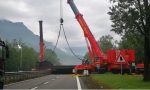
[[[37,78],[51,74],[51,70],[48,71],[20,71],[20,72],[5,72],[4,84],[23,81],[31,78]]]

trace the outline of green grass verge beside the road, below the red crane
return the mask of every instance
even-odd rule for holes
[[[150,89],[150,82],[144,82],[143,76],[120,74],[92,74],[90,76],[99,85],[112,89]]]

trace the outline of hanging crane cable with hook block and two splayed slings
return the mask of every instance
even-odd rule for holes
[[[67,39],[67,36],[66,36],[66,33],[65,33],[65,29],[64,29],[64,26],[63,26],[63,8],[62,8],[62,0],[60,0],[60,29],[59,29],[59,33],[58,33],[58,38],[57,38],[57,42],[56,42],[56,45],[53,49],[53,52],[55,51],[57,45],[58,45],[58,42],[59,42],[59,38],[60,38],[60,34],[61,34],[61,30],[63,30],[63,33],[64,33],[64,37],[65,37],[65,40],[66,40],[66,43],[68,45],[68,48],[69,50],[71,51],[71,53],[79,60],[84,60],[83,58],[80,58],[78,55],[75,54],[75,52],[73,51],[73,49],[70,47],[70,44],[68,42],[68,39]]]

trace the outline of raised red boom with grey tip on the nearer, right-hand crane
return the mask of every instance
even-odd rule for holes
[[[80,24],[80,26],[84,32],[85,38],[87,38],[89,43],[90,43],[91,51],[93,53],[92,56],[94,57],[94,59],[98,58],[98,61],[103,62],[104,53],[102,52],[99,45],[97,44],[97,41],[95,40],[95,38],[94,38],[93,34],[91,33],[86,21],[83,18],[83,15],[79,12],[79,10],[77,9],[73,0],[68,0],[68,4],[72,8],[72,10],[75,14],[75,17],[76,17],[77,21],[79,22],[79,24]],[[89,53],[90,53],[90,49],[89,49]]]

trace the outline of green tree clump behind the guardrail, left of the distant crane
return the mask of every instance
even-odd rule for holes
[[[27,47],[24,44],[20,45],[22,51],[17,47],[15,42],[8,43],[10,56],[6,61],[6,71],[31,70],[35,68],[38,53],[33,48]],[[22,66],[20,64],[21,62]]]

